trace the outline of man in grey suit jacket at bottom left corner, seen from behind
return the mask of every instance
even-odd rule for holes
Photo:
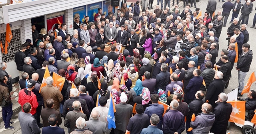
[[[19,112],[19,122],[22,134],[40,134],[41,130],[36,123],[36,119],[31,112],[31,104],[26,102],[22,109],[24,112]]]

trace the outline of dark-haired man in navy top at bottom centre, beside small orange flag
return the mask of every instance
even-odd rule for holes
[[[130,118],[127,126],[127,131],[130,131],[130,134],[140,134],[143,128],[147,128],[150,125],[148,115],[143,113],[142,104],[137,104],[135,109],[136,114]]]

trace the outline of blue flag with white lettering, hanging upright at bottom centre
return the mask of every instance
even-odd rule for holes
[[[116,128],[116,118],[114,115],[114,106],[113,106],[113,98],[112,95],[110,95],[110,102],[109,102],[109,108],[108,108],[108,129],[110,128]]]

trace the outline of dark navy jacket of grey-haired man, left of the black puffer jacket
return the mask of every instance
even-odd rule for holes
[[[195,94],[197,91],[200,90],[202,83],[203,83],[203,77],[201,76],[195,76],[189,81],[186,87],[187,99],[190,99],[190,100],[195,99]]]

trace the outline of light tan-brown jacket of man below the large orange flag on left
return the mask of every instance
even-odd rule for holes
[[[60,93],[60,90],[53,85],[47,85],[41,89],[41,95],[44,98],[44,106],[46,106],[47,99],[53,99],[54,101],[54,110],[60,110],[60,102],[63,100],[63,96]]]

